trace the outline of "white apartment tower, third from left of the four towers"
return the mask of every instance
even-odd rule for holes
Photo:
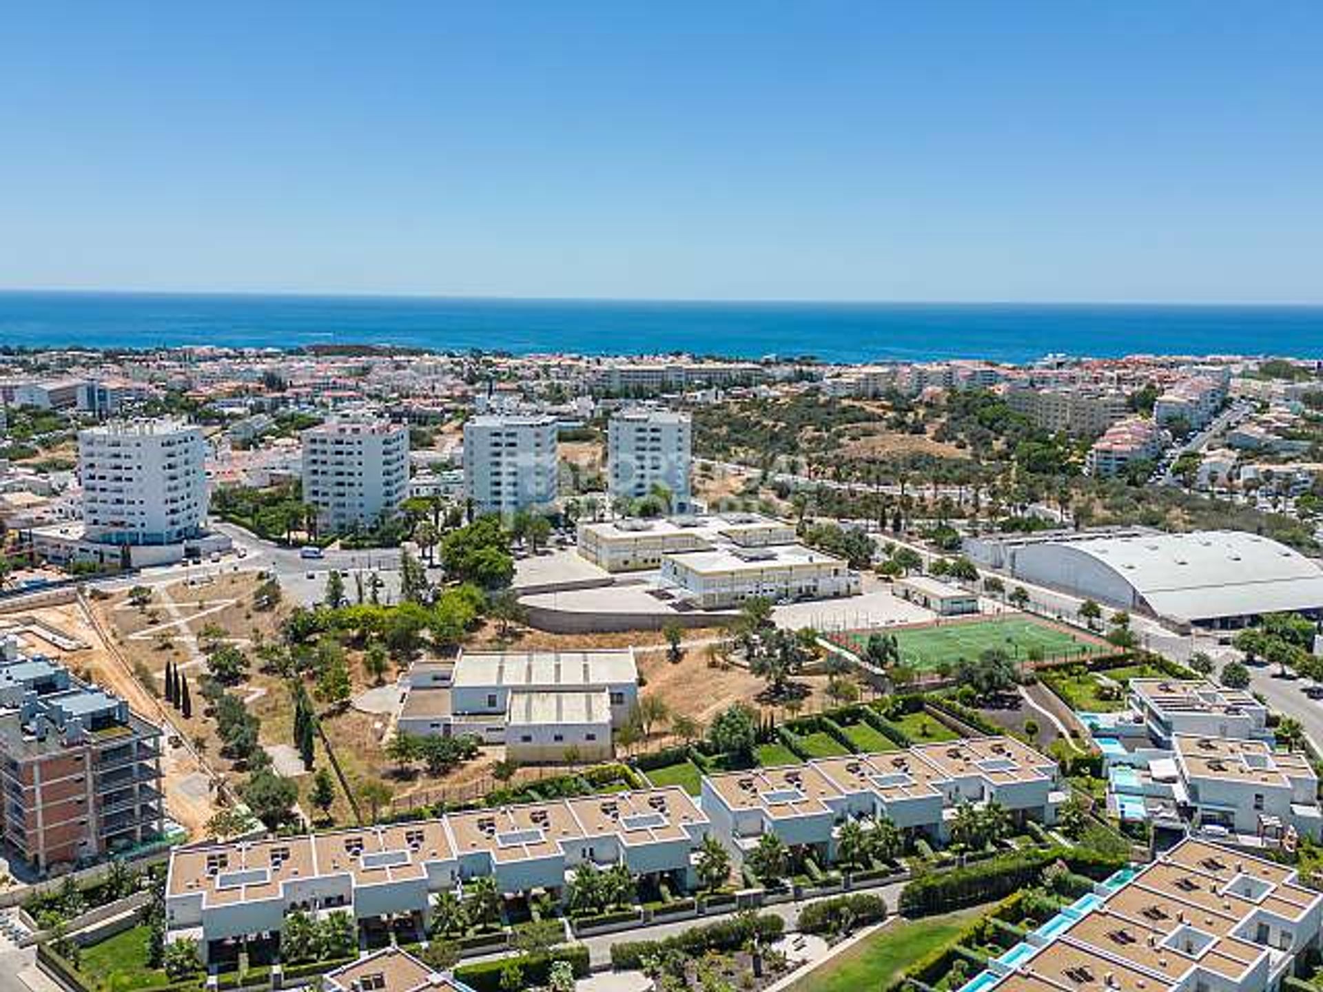
[[[464,423],[464,496],[479,513],[513,513],[556,500],[556,418],[490,414]]]

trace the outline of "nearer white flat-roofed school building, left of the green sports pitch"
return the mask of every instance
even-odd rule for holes
[[[827,599],[861,589],[859,573],[843,558],[800,544],[668,554],[662,561],[662,583],[704,610],[755,597]]]

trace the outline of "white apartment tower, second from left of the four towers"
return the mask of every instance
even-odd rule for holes
[[[303,501],[321,530],[376,526],[407,496],[407,426],[345,418],[303,431]]]

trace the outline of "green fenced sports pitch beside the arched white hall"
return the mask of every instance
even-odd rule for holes
[[[1105,649],[1095,639],[1027,616],[990,616],[984,620],[943,620],[930,627],[847,631],[839,638],[844,647],[863,653],[871,634],[894,634],[901,660],[919,669],[937,668],[943,661],[955,664],[962,657],[975,659],[990,648],[1000,648],[1016,660],[1037,653],[1037,648],[1043,652],[1043,659],[1049,661],[1084,659]]]

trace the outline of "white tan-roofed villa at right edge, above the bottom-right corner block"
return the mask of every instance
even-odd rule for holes
[[[1176,734],[1176,767],[1196,827],[1282,840],[1323,833],[1318,776],[1301,753],[1274,751],[1262,741]]]

